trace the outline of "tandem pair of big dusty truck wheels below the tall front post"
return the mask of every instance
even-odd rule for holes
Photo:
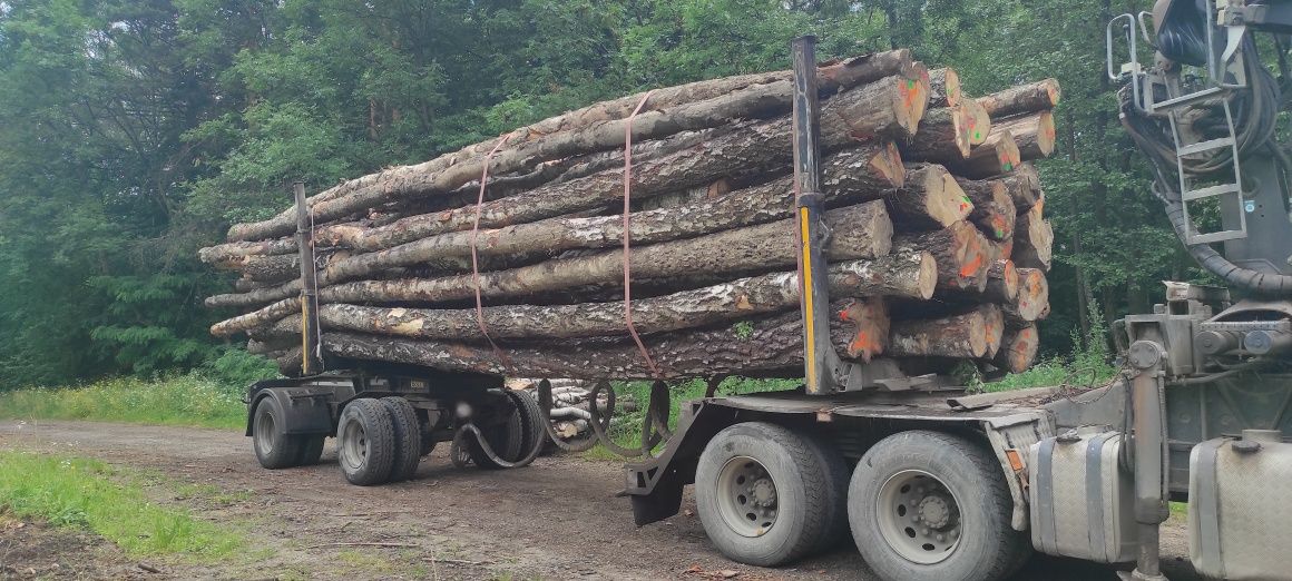
[[[849,528],[885,580],[994,580],[1030,554],[1010,527],[999,462],[961,436],[912,430],[858,461],[815,435],[766,422],[720,431],[700,454],[695,502],[729,558],[778,566],[833,547]]]

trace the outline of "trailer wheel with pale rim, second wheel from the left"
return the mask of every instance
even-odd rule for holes
[[[390,409],[376,399],[357,399],[337,422],[337,460],[350,484],[367,487],[390,479],[395,429]]]

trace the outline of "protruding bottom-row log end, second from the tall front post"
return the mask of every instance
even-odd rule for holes
[[[970,310],[937,319],[891,321],[888,355],[982,358],[987,354],[987,320],[985,314]]]

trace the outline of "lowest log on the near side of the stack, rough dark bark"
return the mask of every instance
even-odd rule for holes
[[[832,318],[831,340],[844,352],[855,340],[850,323]],[[721,329],[642,337],[662,378],[714,374],[786,374],[802,377],[802,324],[797,311]],[[501,345],[505,359],[487,345],[425,340],[390,340],[357,333],[323,333],[326,352],[348,359],[425,365],[443,371],[497,376],[549,376],[580,380],[650,380],[641,351],[630,340]]]

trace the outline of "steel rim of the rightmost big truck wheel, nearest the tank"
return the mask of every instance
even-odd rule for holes
[[[912,563],[941,563],[960,546],[960,502],[942,480],[924,470],[889,476],[880,487],[875,516],[889,547]]]

